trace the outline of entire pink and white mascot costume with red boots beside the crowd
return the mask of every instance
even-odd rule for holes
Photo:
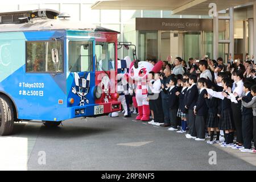
[[[150,119],[150,108],[147,101],[147,74],[158,73],[163,66],[162,61],[152,65],[147,61],[133,61],[130,65],[129,76],[135,81],[135,96],[139,115],[137,120],[148,121]]]

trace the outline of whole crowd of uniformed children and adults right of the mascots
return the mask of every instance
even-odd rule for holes
[[[148,123],[169,127],[188,139],[204,141],[207,137],[208,144],[256,154],[252,143],[256,142],[253,61],[229,60],[224,65],[220,57],[217,61],[191,58],[188,66],[184,62],[177,57],[173,64],[165,63],[161,72],[149,73],[152,121]]]

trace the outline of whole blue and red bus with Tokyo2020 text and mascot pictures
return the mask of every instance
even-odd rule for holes
[[[58,126],[119,111],[118,33],[54,10],[1,13],[0,135],[16,121]]]

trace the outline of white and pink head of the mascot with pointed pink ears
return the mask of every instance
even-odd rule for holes
[[[162,66],[162,61],[158,61],[158,63],[156,63],[154,66],[151,63],[148,63],[147,61],[135,60],[133,61],[133,63],[131,63],[129,75],[131,79],[135,81],[147,80],[147,74],[149,72],[153,71],[154,73],[158,73]]]

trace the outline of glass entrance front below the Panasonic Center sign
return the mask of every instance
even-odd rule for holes
[[[204,41],[201,41],[202,34]],[[220,32],[219,39],[224,38],[225,32]],[[228,50],[225,44],[219,44],[218,49],[218,56],[226,58]],[[213,32],[138,31],[139,60],[181,56],[187,61],[189,57],[201,59],[204,55],[213,57]]]

